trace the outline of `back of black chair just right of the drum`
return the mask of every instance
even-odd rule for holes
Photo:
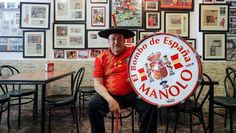
[[[209,84],[207,82],[209,82]],[[194,93],[195,108],[198,108],[198,104],[200,104],[200,108],[202,108],[209,96],[210,84],[212,84],[211,78],[207,74],[203,73],[201,85]]]

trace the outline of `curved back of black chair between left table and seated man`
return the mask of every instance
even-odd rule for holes
[[[83,77],[84,77],[84,72],[85,72],[85,68],[81,67],[76,72],[75,78],[73,80],[73,90],[74,90],[73,98],[75,101],[77,101],[77,96],[78,96],[80,85],[81,85]]]

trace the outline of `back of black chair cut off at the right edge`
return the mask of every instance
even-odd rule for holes
[[[226,97],[236,97],[236,70],[229,72],[224,79]]]

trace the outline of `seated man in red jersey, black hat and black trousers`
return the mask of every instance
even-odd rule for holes
[[[135,34],[127,29],[107,29],[98,33],[108,39],[109,49],[95,59],[94,87],[97,94],[88,105],[92,133],[104,133],[104,117],[120,107],[133,106],[140,113],[141,133],[157,132],[156,107],[137,98],[128,80],[128,61],[134,50],[125,46],[125,39]]]

